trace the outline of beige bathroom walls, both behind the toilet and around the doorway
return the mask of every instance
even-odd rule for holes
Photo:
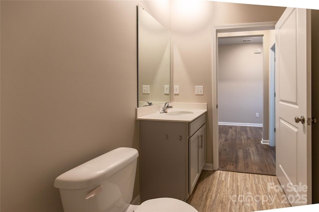
[[[173,78],[180,86],[173,101],[208,103],[208,163],[212,25],[272,21],[283,12],[206,1],[188,14],[177,2],[170,9],[158,1],[0,3],[1,212],[62,211],[55,177],[114,148],[139,147],[138,3],[173,30]],[[194,85],[204,86],[203,96],[193,95]],[[139,175],[135,196],[138,182]]]

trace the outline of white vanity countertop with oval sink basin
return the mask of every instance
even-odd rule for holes
[[[167,113],[160,113],[157,111],[148,115],[139,116],[137,117],[137,119],[153,121],[191,122],[205,112],[207,112],[207,109],[168,108]]]

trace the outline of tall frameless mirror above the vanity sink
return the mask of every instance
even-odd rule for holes
[[[138,106],[170,102],[170,33],[138,6]]]

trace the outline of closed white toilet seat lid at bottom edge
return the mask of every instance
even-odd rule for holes
[[[143,202],[135,212],[197,212],[197,210],[181,200],[157,198]]]

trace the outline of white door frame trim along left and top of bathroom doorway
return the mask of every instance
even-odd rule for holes
[[[213,26],[212,29],[212,120],[213,120],[213,170],[218,169],[218,32],[239,32],[239,31],[257,31],[275,29],[277,21],[255,22],[244,24],[229,24]]]

